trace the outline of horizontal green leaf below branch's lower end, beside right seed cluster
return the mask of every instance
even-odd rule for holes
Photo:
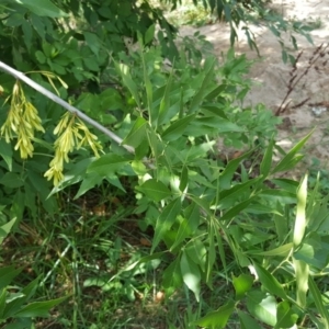
[[[122,157],[115,154],[107,154],[91,162],[87,173],[97,172],[99,175],[114,174],[118,170],[128,170],[131,157]]]

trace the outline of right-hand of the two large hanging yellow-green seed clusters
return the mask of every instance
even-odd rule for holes
[[[56,128],[54,134],[58,135],[55,141],[55,157],[49,163],[49,169],[45,173],[48,180],[54,180],[54,185],[58,185],[64,179],[64,162],[68,162],[68,154],[73,149],[88,145],[92,148],[94,155],[99,157],[99,150],[102,146],[97,141],[98,137],[90,133],[88,127],[77,116],[66,113]]]

